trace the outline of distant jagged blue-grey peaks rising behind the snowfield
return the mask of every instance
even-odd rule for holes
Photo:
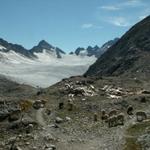
[[[88,46],[87,49],[85,48],[77,48],[75,52],[70,52],[70,55],[77,55],[77,56],[95,56],[100,57],[109,47],[115,44],[118,41],[118,38],[114,40],[110,40],[106,42],[102,47],[99,46]],[[21,45],[9,43],[2,38],[0,39],[0,51],[1,52],[10,52],[14,51],[15,53],[21,54],[28,58],[36,59],[37,55],[35,53],[43,53],[44,51],[50,55],[55,56],[56,58],[62,58],[63,55],[66,53],[58,47],[54,47],[45,40],[42,40],[38,43],[37,46],[34,46],[31,49],[26,49]]]

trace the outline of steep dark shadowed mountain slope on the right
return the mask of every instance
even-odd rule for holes
[[[150,74],[150,16],[134,25],[85,75]]]

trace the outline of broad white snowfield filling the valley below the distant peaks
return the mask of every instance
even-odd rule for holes
[[[37,59],[29,59],[14,51],[0,52],[0,74],[19,83],[48,87],[63,78],[82,75],[96,61],[94,56],[69,54],[59,59],[46,50],[34,54]]]

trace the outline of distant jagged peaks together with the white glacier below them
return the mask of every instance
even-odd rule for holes
[[[66,54],[45,40],[27,50],[0,39],[0,75],[19,83],[48,87],[63,78],[84,74],[113,41],[116,40],[107,42],[101,48],[89,46],[84,51],[78,48],[79,51]]]

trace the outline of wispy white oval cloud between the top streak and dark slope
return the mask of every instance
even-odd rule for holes
[[[118,27],[128,27],[130,26],[130,23],[127,21],[124,17],[111,17],[107,20],[107,22],[118,26]]]

